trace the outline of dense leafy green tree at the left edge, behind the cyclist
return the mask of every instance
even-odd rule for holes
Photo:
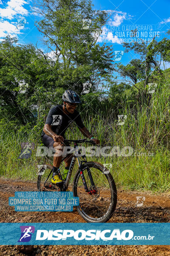
[[[7,36],[0,43],[0,117],[34,122],[34,113],[47,113],[63,93],[55,88],[56,79],[53,63],[32,44],[18,44],[17,38]],[[22,83],[27,85],[25,93],[20,93]]]

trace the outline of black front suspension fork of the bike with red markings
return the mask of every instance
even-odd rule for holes
[[[82,177],[82,183],[83,183],[83,185],[84,185],[85,192],[88,192],[88,194],[90,194],[90,195],[96,194],[96,189],[94,189],[94,187],[95,187],[95,185],[94,185],[94,180],[93,180],[93,177],[92,177],[92,175],[91,175],[90,169],[88,168],[88,166],[85,167],[85,169],[87,169],[87,171],[88,171],[88,177],[89,177],[89,179],[90,179],[91,186],[93,187],[93,190],[90,189],[90,191],[89,191],[88,186],[87,186],[87,183],[86,183],[86,181],[85,181],[85,175],[84,175],[84,173],[83,173],[83,171],[82,171],[82,163],[87,163],[87,160],[81,161],[81,163],[80,163],[80,162],[79,162],[79,158],[77,157],[77,163],[78,163],[78,165],[79,165],[79,171],[80,171],[80,175],[81,175],[81,177]],[[85,170],[85,169],[83,169],[83,170]]]

